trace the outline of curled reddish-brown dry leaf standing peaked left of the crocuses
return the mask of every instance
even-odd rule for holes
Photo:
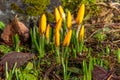
[[[29,29],[20,21],[18,21],[17,16],[9,23],[1,34],[1,38],[7,44],[12,44],[12,37],[18,34],[21,41],[25,42],[29,38]]]

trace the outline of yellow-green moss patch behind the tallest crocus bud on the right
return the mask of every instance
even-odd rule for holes
[[[85,16],[90,14],[95,16],[100,12],[100,8],[95,4],[97,0],[61,0],[64,9],[70,10],[72,14],[77,15],[78,9],[82,3],[85,4]],[[75,16],[76,17],[76,16]]]

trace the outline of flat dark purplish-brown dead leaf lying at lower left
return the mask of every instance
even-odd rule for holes
[[[32,53],[10,52],[0,59],[0,68],[4,70],[6,67],[6,62],[8,63],[9,70],[13,68],[15,63],[17,63],[16,67],[20,67],[34,57],[35,55]]]

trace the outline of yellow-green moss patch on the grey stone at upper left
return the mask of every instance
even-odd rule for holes
[[[22,9],[17,4],[12,3],[11,8],[18,13],[27,14],[30,16],[38,16],[45,12],[49,5],[49,0],[22,0],[25,9]]]

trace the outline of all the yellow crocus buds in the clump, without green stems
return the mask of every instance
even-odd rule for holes
[[[83,41],[84,40],[84,25],[82,24],[83,22],[83,18],[84,18],[84,13],[85,13],[85,5],[81,4],[77,16],[75,18],[76,24],[78,25],[76,32],[78,32],[78,40],[79,41]],[[56,26],[54,28],[54,43],[56,47],[59,47],[60,44],[62,43],[63,46],[69,46],[70,45],[70,41],[71,41],[71,37],[72,37],[72,15],[71,12],[68,10],[67,11],[67,15],[65,16],[65,12],[62,8],[62,6],[59,7],[55,7],[54,10],[54,15],[55,15],[55,22],[56,22]],[[65,25],[66,25],[66,32],[65,35],[61,35],[63,33],[63,20],[65,21]],[[39,32],[41,35],[46,36],[46,39],[48,40],[49,37],[49,33],[50,33],[50,24],[47,24],[47,19],[46,19],[46,15],[43,14],[41,16],[41,20],[40,20],[40,24],[39,24]],[[61,36],[63,36],[63,41],[61,41]]]

